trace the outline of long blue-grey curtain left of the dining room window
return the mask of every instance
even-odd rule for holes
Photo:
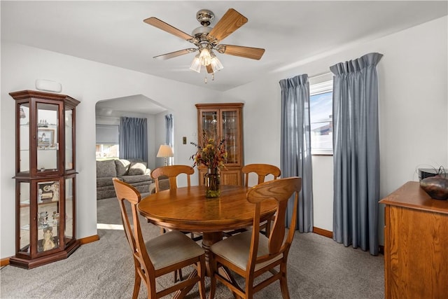
[[[302,190],[296,228],[313,231],[313,190],[309,82],[307,74],[283,79],[281,86],[281,176],[301,176]],[[288,202],[286,223],[290,223],[293,202]]]

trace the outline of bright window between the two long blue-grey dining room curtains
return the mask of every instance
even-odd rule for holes
[[[332,88],[333,82],[323,81],[309,85],[311,154],[332,155]]]

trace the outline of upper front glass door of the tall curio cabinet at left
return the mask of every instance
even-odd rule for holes
[[[38,102],[37,115],[37,171],[57,171],[59,152],[59,104]]]

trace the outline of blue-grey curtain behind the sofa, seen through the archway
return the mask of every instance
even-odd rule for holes
[[[120,118],[120,159],[148,162],[146,118]]]

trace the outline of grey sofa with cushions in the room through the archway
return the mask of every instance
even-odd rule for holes
[[[146,162],[135,160],[104,160],[97,161],[97,200],[116,197],[112,178],[130,183],[140,193],[149,193],[151,183],[151,169]]]

